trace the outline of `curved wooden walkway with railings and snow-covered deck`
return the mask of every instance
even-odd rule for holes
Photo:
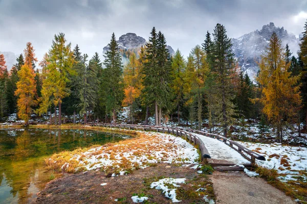
[[[212,166],[233,166],[243,164],[250,168],[255,160],[266,160],[257,152],[225,138],[220,135],[210,134],[203,131],[183,129],[169,126],[133,125],[133,124],[109,124],[95,123],[95,126],[113,127],[128,130],[157,131],[185,137],[191,143],[198,144],[202,154],[202,161]]]

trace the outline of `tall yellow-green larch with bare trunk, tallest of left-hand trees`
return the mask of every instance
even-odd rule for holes
[[[61,124],[61,105],[62,99],[69,96],[67,83],[69,75],[74,75],[76,72],[72,69],[74,58],[71,51],[71,43],[65,45],[65,34],[59,33],[54,35],[51,49],[49,50],[50,63],[47,66],[47,77],[43,81],[41,89],[40,107],[38,113],[47,113],[48,109],[53,104],[59,107],[59,125]]]

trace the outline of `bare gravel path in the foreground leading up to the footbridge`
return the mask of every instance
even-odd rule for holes
[[[215,171],[213,183],[216,203],[236,204],[291,204],[296,203],[282,191],[259,177],[249,177],[242,171]]]

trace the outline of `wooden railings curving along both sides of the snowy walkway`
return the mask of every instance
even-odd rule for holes
[[[93,125],[93,124],[92,124]],[[239,152],[240,155],[242,155],[245,159],[250,161],[252,164],[255,163],[255,160],[262,160],[266,161],[266,158],[264,156],[259,155],[257,152],[254,152],[239,143],[228,139],[226,137],[223,137],[221,135],[212,134],[212,133],[206,133],[203,131],[197,131],[192,129],[185,129],[182,127],[169,127],[169,126],[152,126],[152,125],[137,125],[137,124],[110,124],[110,123],[95,123],[95,126],[103,126],[103,127],[117,127],[122,129],[128,129],[128,130],[143,130],[143,131],[157,131],[162,133],[170,133],[177,136],[185,137],[188,139],[191,143],[198,144],[200,151],[202,153],[202,161],[207,163],[207,159],[210,159],[210,154],[205,146],[205,143],[203,140],[196,134],[203,135],[206,137],[211,137],[220,140],[221,142],[224,142],[237,152]]]

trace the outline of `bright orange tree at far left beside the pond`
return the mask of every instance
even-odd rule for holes
[[[17,90],[15,91],[15,95],[18,96],[18,117],[25,120],[25,124],[28,125],[31,113],[33,112],[32,108],[37,104],[35,100],[36,86],[34,70],[28,64],[25,64],[18,71],[18,78]]]

